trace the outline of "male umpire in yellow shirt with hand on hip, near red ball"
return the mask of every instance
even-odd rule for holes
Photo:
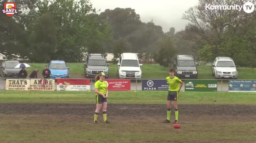
[[[171,103],[173,101],[173,105],[175,108],[175,121],[173,123],[178,123],[179,110],[178,110],[178,99],[179,99],[179,91],[183,85],[183,82],[176,76],[174,76],[174,69],[169,70],[170,76],[166,77],[166,81],[169,84],[169,90],[167,95],[167,119],[163,121],[163,123],[170,123],[170,114],[171,114]]]

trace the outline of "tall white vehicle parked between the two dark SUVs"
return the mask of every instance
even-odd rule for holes
[[[117,65],[119,78],[141,78],[142,64],[135,53],[122,53]]]

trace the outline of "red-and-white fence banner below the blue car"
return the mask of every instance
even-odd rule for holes
[[[57,91],[90,91],[90,80],[57,79]]]

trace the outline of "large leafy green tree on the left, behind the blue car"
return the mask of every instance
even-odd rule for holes
[[[105,52],[103,43],[111,38],[110,26],[99,17],[88,0],[32,2],[21,3],[21,8],[28,7],[28,11],[2,24],[2,27],[14,25],[8,29],[21,31],[17,32],[21,36],[10,34],[12,40],[1,42],[5,45],[1,53],[28,57],[32,62],[56,59],[76,62],[84,58],[85,52]],[[15,48],[9,48],[10,45]]]

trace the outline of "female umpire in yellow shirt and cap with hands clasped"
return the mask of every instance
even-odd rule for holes
[[[107,98],[108,98],[108,82],[104,81],[105,73],[101,72],[95,76],[95,93],[96,93],[96,110],[94,113],[94,123],[97,123],[99,111],[102,109],[104,123],[107,121]]]

